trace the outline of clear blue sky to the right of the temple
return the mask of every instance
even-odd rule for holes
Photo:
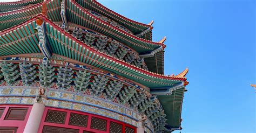
[[[255,1],[100,3],[165,41],[165,74],[189,68],[181,132],[255,132]],[[179,131],[176,131],[179,132]]]

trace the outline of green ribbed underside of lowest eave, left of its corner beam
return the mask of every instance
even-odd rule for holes
[[[23,25],[0,33],[0,56],[40,53],[38,34],[33,31],[36,22],[31,19]]]

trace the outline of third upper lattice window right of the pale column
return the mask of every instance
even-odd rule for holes
[[[92,117],[91,129],[97,129],[97,130],[106,131],[106,124],[107,124],[107,120],[104,120],[104,119],[101,119],[101,118]]]

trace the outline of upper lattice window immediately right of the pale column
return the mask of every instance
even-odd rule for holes
[[[45,118],[45,122],[60,123],[60,124],[64,124],[65,120],[66,120],[66,112],[56,111],[56,110],[48,110],[48,113]]]

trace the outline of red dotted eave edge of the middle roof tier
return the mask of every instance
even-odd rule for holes
[[[85,10],[85,9],[83,8],[83,6],[79,5],[77,2],[72,1],[72,0],[71,0],[70,2],[71,2],[72,4],[74,4],[75,6],[77,6],[77,8],[78,8],[79,10],[82,10],[83,12],[87,13],[87,15],[92,16],[92,19],[95,19],[96,21],[98,21],[98,22],[100,22],[100,23],[102,23],[102,24],[104,24],[104,25],[110,27],[111,29],[116,30],[117,32],[120,32],[120,33],[124,34],[124,35],[127,36],[127,37],[130,37],[130,38],[135,39],[135,40],[138,40],[138,41],[142,41],[142,42],[144,42],[144,43],[146,43],[146,44],[151,44],[151,45],[155,45],[155,46],[162,46],[163,48],[166,47],[163,43],[156,43],[156,42],[153,42],[153,41],[150,41],[150,40],[146,40],[146,39],[143,39],[143,38],[139,38],[139,37],[137,37],[137,36],[134,36],[133,34],[126,33],[126,32],[124,32],[124,31],[118,29],[117,27],[114,27],[114,26],[112,26],[112,25],[110,25],[110,24],[104,22],[103,20],[101,20],[101,19],[95,17],[95,16],[92,15],[89,11]]]

